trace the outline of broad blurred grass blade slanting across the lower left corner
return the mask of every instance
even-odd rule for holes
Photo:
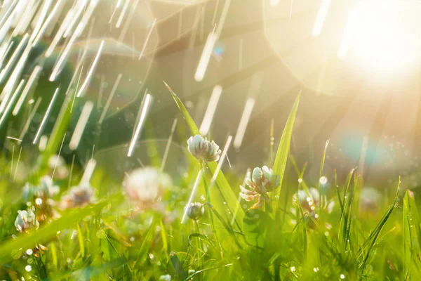
[[[57,235],[58,231],[74,226],[81,218],[95,214],[95,212],[100,211],[107,206],[107,204],[109,204],[109,202],[102,201],[98,204],[81,209],[72,209],[63,214],[58,220],[48,223],[46,226],[39,228],[39,230],[36,230],[33,233],[19,235],[15,240],[4,242],[0,245],[0,264],[10,261],[13,256],[19,254],[22,249],[32,249],[37,244],[48,242]]]

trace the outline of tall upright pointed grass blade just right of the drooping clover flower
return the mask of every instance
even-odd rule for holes
[[[279,188],[277,191],[278,197],[281,194],[283,174],[285,173],[286,162],[288,160],[291,137],[293,136],[295,115],[297,114],[298,104],[300,103],[300,96],[301,96],[301,91],[298,94],[297,98],[295,99],[295,103],[293,105],[293,108],[290,111],[290,114],[285,124],[285,128],[283,129],[283,133],[281,136],[281,141],[279,142],[278,150],[276,151],[276,157],[274,161],[274,174],[279,175]],[[274,200],[273,209],[278,210],[278,200]]]

